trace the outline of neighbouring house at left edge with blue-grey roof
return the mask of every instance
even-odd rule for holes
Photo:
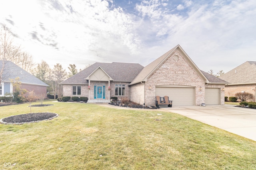
[[[2,68],[3,61],[0,61],[0,70]],[[32,74],[26,72],[11,61],[4,61],[4,70],[2,74],[2,81],[0,83],[0,96],[4,96],[6,93],[12,93],[13,89],[11,79],[19,77],[21,83],[20,88],[27,91],[34,90],[35,94],[47,93],[46,87],[48,86]]]

